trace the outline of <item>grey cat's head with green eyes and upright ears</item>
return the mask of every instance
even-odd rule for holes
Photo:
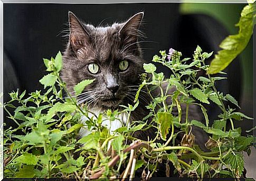
[[[96,109],[116,109],[134,99],[143,59],[139,26],[144,13],[106,27],[83,24],[69,12],[69,42],[63,53],[62,80],[69,92],[84,79],[95,79],[78,97]]]

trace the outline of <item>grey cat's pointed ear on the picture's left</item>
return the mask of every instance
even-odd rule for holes
[[[77,16],[69,12],[69,42],[74,52],[86,45],[89,41],[89,33],[81,24]]]

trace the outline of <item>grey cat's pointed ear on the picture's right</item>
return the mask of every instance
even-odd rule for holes
[[[130,41],[137,41],[138,36],[141,35],[139,26],[143,20],[144,12],[140,12],[128,19],[119,30],[119,35],[125,36]]]

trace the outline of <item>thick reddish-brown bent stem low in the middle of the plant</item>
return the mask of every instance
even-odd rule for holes
[[[153,148],[152,148],[150,145],[148,145],[148,144],[146,144],[146,143],[143,143],[143,142],[141,142],[140,140],[136,140],[136,141],[135,141],[134,143],[132,143],[128,148],[124,149],[123,152],[124,152],[124,153],[130,152],[131,149],[139,149],[139,148],[141,148],[141,147],[147,148],[147,149],[149,150],[149,152],[151,152],[151,151],[153,150]],[[119,155],[113,157],[113,158],[110,160],[110,162],[108,163],[108,167],[110,168],[110,167],[113,167],[114,165],[116,165],[116,163],[118,162],[119,159],[120,159]],[[102,167],[101,170],[100,170],[99,172],[97,172],[97,173],[94,173],[94,174],[90,177],[90,179],[97,179],[97,178],[99,178],[99,177],[103,174],[104,171],[105,171],[105,167]]]

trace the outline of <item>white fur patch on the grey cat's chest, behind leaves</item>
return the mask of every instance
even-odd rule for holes
[[[102,113],[101,110],[97,110],[97,109],[90,110],[90,112],[94,113],[96,116],[98,116],[100,113]],[[97,117],[92,113],[88,113],[88,117],[90,117],[90,118],[93,117],[94,119],[97,119]],[[93,129],[93,127],[88,129],[88,126],[86,124],[88,117],[87,116],[81,117],[81,123],[84,124],[84,127],[82,127],[79,130],[79,135],[81,137],[89,135],[91,133],[91,130]],[[102,117],[103,121],[102,121],[101,125],[107,127],[110,130],[110,134],[113,134],[113,132],[116,129],[118,129],[122,126],[130,125],[129,122],[127,123],[127,117],[128,117],[127,113],[121,113],[121,114],[117,115],[116,119],[113,121],[110,121],[109,119]]]

